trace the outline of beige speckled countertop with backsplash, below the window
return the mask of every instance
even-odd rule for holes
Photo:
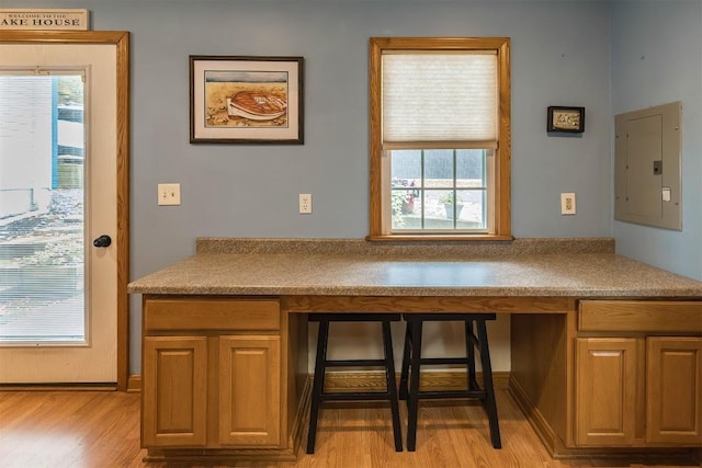
[[[612,239],[366,242],[197,239],[136,294],[702,298],[702,282],[616,255]]]

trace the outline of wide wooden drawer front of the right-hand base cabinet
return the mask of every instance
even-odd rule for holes
[[[702,333],[702,301],[582,300],[578,329]]]

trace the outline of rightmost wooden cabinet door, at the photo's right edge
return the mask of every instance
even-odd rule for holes
[[[702,445],[702,338],[647,338],[646,373],[646,441]]]

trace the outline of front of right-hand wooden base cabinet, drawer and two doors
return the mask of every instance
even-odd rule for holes
[[[582,301],[577,446],[702,445],[702,303]]]

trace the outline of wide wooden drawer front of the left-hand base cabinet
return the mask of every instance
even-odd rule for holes
[[[280,330],[275,299],[148,299],[144,330]]]

